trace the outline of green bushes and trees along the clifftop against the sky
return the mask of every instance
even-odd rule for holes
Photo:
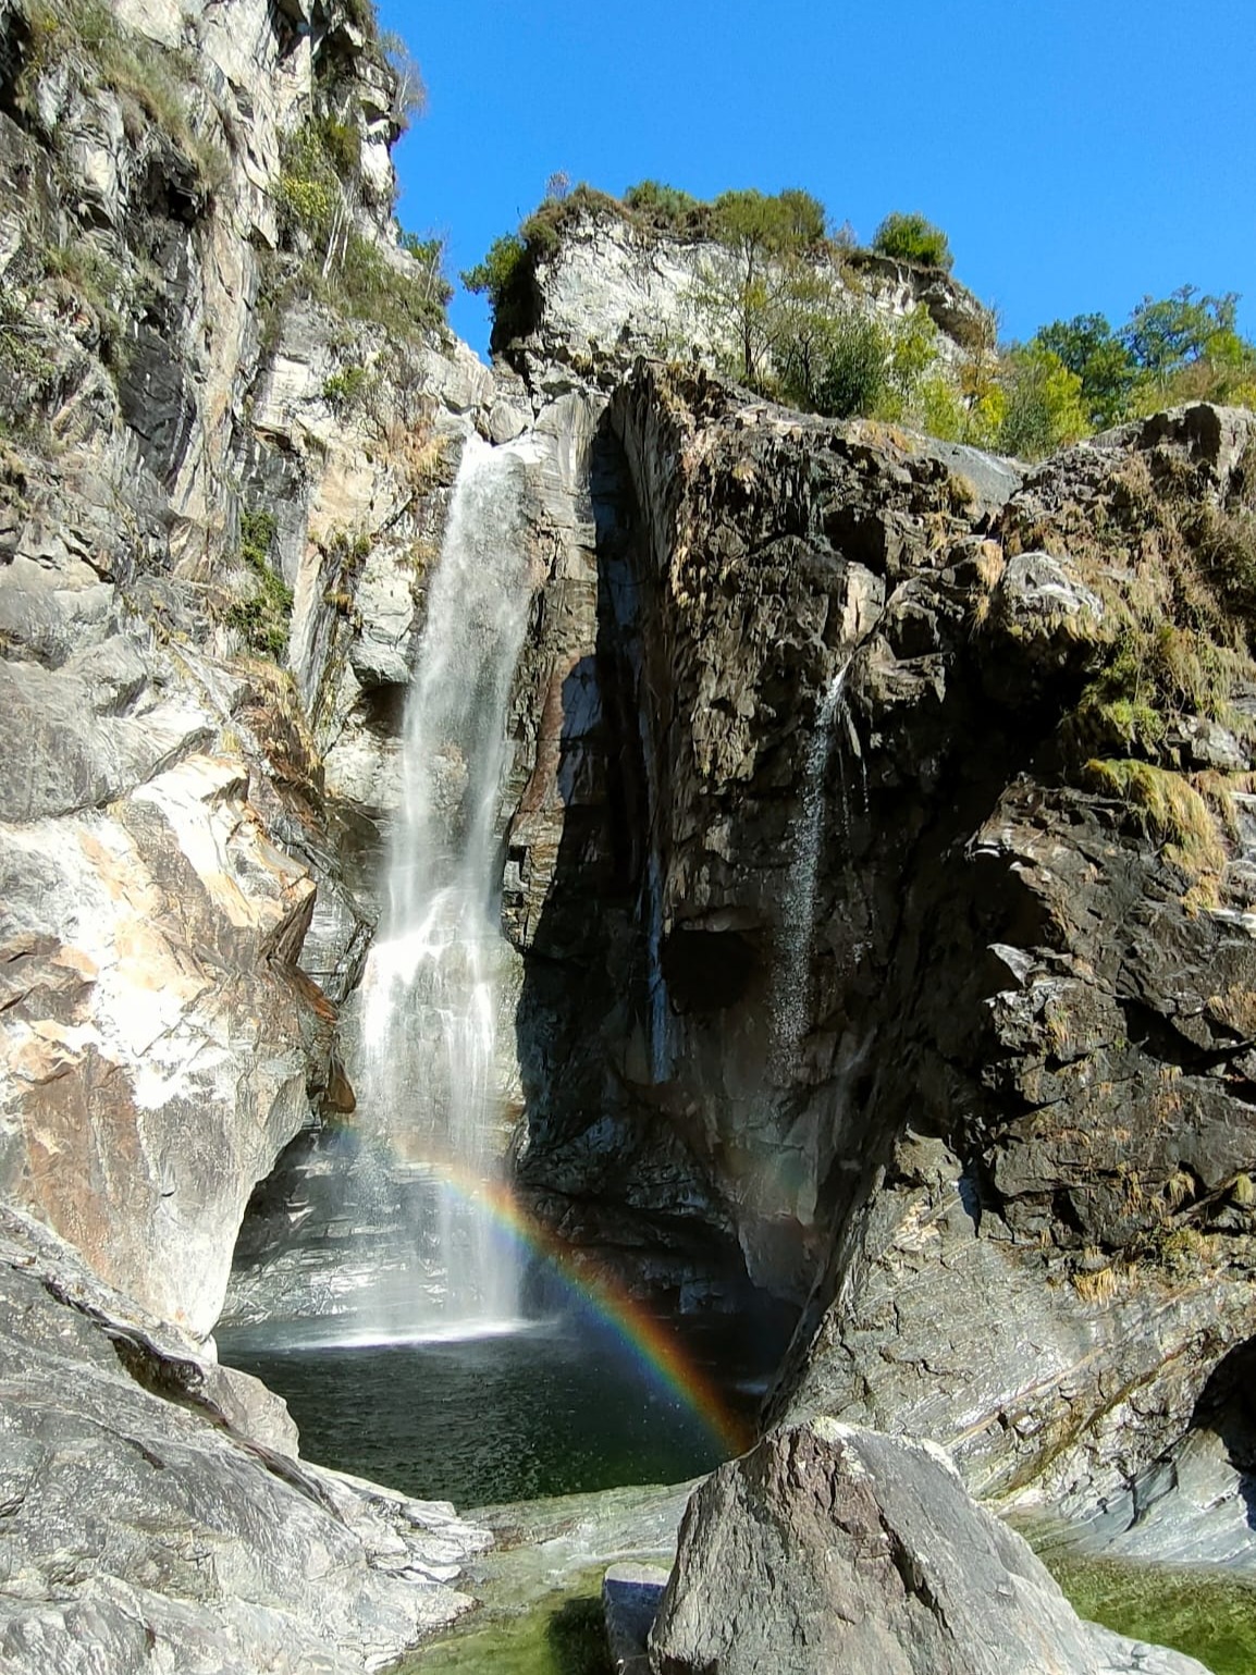
[[[564,233],[616,218],[641,238],[723,246],[695,283],[695,335],[717,345],[720,370],[750,389],[831,417],[903,422],[945,441],[1042,459],[1112,424],[1184,400],[1256,405],[1256,347],[1239,337],[1233,293],[1182,286],[1145,296],[1125,325],[1080,315],[1045,325],[1027,343],[1000,345],[995,317],[971,298],[953,310],[948,340],[923,305],[906,315],[876,303],[876,260],[946,285],[953,258],[941,228],[889,214],[871,251],[849,228],[834,233],[809,193],[732,191],[702,203],[660,181],[623,199],[561,183],[516,233],[496,240],[462,280],[489,296],[494,345],[534,330],[538,268]],[[966,293],[955,288],[955,295]],[[718,348],[718,345],[725,345]],[[660,353],[685,345],[660,342]]]

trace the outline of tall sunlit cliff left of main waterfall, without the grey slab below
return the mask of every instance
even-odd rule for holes
[[[204,1337],[352,1104],[370,787],[491,380],[424,325],[352,7],[10,5],[0,67],[0,1193]]]

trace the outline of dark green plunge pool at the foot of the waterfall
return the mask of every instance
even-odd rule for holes
[[[219,1353],[286,1399],[306,1459],[461,1508],[682,1482],[732,1452],[616,1333],[584,1317],[501,1337],[343,1348],[228,1333]],[[728,1327],[708,1328],[687,1353],[749,1420],[762,1375]]]

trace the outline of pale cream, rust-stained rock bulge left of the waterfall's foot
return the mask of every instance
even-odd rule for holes
[[[203,1335],[320,1028],[295,965],[313,886],[245,796],[193,755],[107,812],[0,826],[3,1196]]]

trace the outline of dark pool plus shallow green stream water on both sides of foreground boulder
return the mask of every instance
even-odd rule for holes
[[[750,1422],[779,1347],[747,1348],[730,1318],[673,1322],[692,1367]],[[682,1482],[732,1447],[690,1402],[625,1352],[605,1322],[568,1315],[489,1337],[318,1347],[335,1323],[224,1333],[223,1360],[285,1395],[301,1454],[459,1511],[496,1504],[501,1548],[476,1561],[484,1600],[407,1672],[610,1675],[598,1590],[611,1558],[670,1563]],[[305,1333],[305,1340],[301,1338]],[[589,1491],[603,1491],[593,1494]],[[529,1502],[556,1502],[553,1513]],[[517,1516],[516,1516],[517,1514]],[[517,1523],[517,1528],[516,1528]],[[576,1528],[554,1548],[556,1531]],[[605,1528],[601,1528],[605,1526]],[[1067,1531],[1033,1544],[1075,1610],[1122,1635],[1176,1647],[1214,1675],[1256,1672],[1256,1580],[1084,1553]],[[546,1543],[544,1559],[533,1544]],[[601,1544],[598,1544],[601,1541]],[[487,1585],[486,1585],[487,1583]]]

